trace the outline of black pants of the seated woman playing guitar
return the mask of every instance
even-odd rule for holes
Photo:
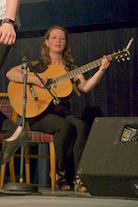
[[[56,169],[66,170],[69,157],[73,154],[75,173],[88,137],[87,125],[74,115],[62,118],[55,114],[48,114],[37,123],[31,124],[34,131],[41,131],[54,135],[56,150]]]

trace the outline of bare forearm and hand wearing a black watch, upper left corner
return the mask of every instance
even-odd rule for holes
[[[5,19],[15,20],[18,0],[6,1]],[[11,45],[16,40],[14,26],[10,23],[3,23],[0,27],[0,43]]]

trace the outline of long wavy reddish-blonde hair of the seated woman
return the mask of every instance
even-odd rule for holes
[[[60,29],[65,33],[66,45],[65,45],[65,49],[63,51],[63,56],[62,56],[63,57],[63,64],[66,65],[66,66],[69,66],[69,67],[73,67],[74,66],[74,60],[71,56],[71,48],[70,48],[69,43],[68,43],[68,32],[67,32],[66,29],[64,29],[63,27],[60,27],[60,26],[53,26],[46,32],[46,34],[44,36],[44,40],[43,40],[40,59],[42,60],[42,62],[45,65],[50,65],[51,64],[51,57],[49,56],[49,48],[46,46],[45,40],[49,39],[50,32],[54,29]]]

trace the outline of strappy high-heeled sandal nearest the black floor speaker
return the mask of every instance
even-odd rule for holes
[[[76,176],[74,183],[75,192],[87,192],[87,188],[83,185],[83,182],[79,178],[79,175]]]

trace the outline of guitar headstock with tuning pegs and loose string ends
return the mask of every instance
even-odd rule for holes
[[[116,53],[113,53],[111,55],[112,59],[116,59],[118,62],[125,61],[125,60],[130,60],[130,52],[129,52],[129,47],[132,44],[133,38],[131,40],[129,40],[128,45],[126,46],[125,49],[123,49],[122,51],[118,51]]]

